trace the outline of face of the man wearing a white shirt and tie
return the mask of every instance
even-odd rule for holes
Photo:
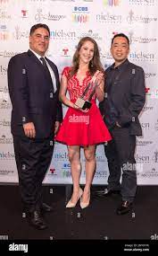
[[[38,55],[44,56],[49,46],[49,32],[45,28],[38,28],[29,36],[29,47]]]

